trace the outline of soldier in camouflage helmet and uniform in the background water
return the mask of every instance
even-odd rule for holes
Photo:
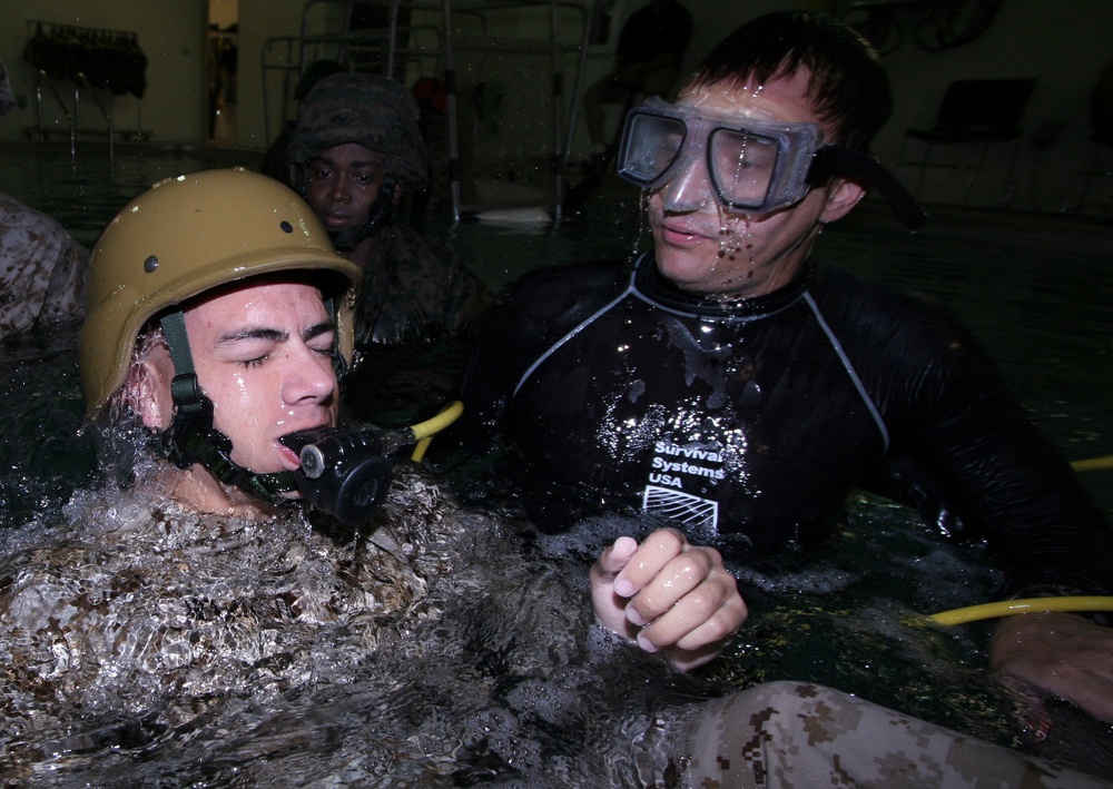
[[[376,75],[337,73],[305,97],[287,148],[290,179],[337,250],[363,268],[361,344],[401,344],[465,333],[489,300],[482,282],[447,249],[395,219],[405,194],[429,186],[417,108]]]

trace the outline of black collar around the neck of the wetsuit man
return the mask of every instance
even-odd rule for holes
[[[737,302],[720,302],[681,290],[657,269],[653,253],[647,252],[634,264],[631,289],[643,300],[677,315],[720,320],[754,320],[772,315],[796,303],[815,277],[815,266],[806,262],[792,280],[764,296]]]

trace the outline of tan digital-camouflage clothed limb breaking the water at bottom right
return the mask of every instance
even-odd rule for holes
[[[699,706],[688,787],[1109,787],[829,688],[769,682]]]

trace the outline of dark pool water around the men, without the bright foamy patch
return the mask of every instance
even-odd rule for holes
[[[211,166],[254,167],[254,152],[117,148],[0,148],[0,191],[66,225],[87,247],[150,184]],[[558,227],[415,219],[449,243],[492,287],[562,260],[644,248],[639,198],[604,181]],[[817,255],[865,277],[916,289],[953,309],[981,337],[1033,418],[1070,460],[1113,454],[1113,230],[1062,217],[936,208],[917,236],[867,204],[820,238]],[[79,432],[76,332],[0,344],[0,527],[60,517],[75,490],[96,480],[91,441]],[[381,374],[352,382],[354,411],[406,424],[450,398],[466,348],[376,351]],[[77,436],[75,438],[75,435]],[[1113,471],[1084,482],[1113,516]],[[459,484],[459,477],[456,477]],[[466,483],[465,483],[466,484]],[[621,521],[590,522],[552,548],[593,555]],[[561,543],[560,541],[564,542]],[[812,680],[959,731],[1113,778],[1113,731],[1047,700],[1043,741],[1025,730],[1027,699],[984,670],[992,623],[949,630],[916,623],[988,600],[997,579],[977,545],[945,543],[903,507],[869,496],[851,507],[838,545],[776,563],[733,568],[751,611],[729,652],[706,675],[740,687]],[[309,711],[306,714],[311,714]]]

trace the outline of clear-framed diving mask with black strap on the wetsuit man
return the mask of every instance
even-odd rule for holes
[[[719,203],[760,216],[799,203],[835,172],[876,186],[913,230],[926,215],[871,156],[823,142],[817,124],[767,121],[738,114],[700,112],[653,97],[627,115],[619,147],[619,176],[658,189],[702,159]]]

